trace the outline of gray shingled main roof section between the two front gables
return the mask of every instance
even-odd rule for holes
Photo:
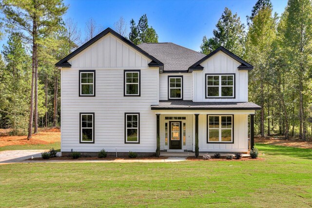
[[[187,71],[206,55],[172,42],[141,43],[137,45],[164,64],[164,71]]]

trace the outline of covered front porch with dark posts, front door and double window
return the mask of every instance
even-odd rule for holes
[[[190,154],[198,147],[202,153],[247,153],[254,147],[254,112],[257,108],[248,102],[160,102],[152,106],[157,120],[159,149]]]

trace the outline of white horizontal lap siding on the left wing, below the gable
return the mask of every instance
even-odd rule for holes
[[[123,96],[123,70],[96,70],[96,96],[78,96],[78,69],[62,70],[61,151],[137,151],[156,150],[158,69],[141,70],[141,96]],[[76,82],[66,82],[71,77]],[[111,78],[114,82],[111,82]],[[107,84],[110,83],[110,84]],[[151,93],[152,92],[152,93]],[[95,144],[79,143],[79,113],[95,113]],[[140,113],[140,144],[124,144],[124,113]]]

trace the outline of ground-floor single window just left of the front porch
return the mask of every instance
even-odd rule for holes
[[[140,143],[140,113],[125,113],[125,143]]]

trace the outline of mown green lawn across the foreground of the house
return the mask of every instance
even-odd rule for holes
[[[1,165],[0,207],[311,207],[312,150],[257,147],[265,160]]]

